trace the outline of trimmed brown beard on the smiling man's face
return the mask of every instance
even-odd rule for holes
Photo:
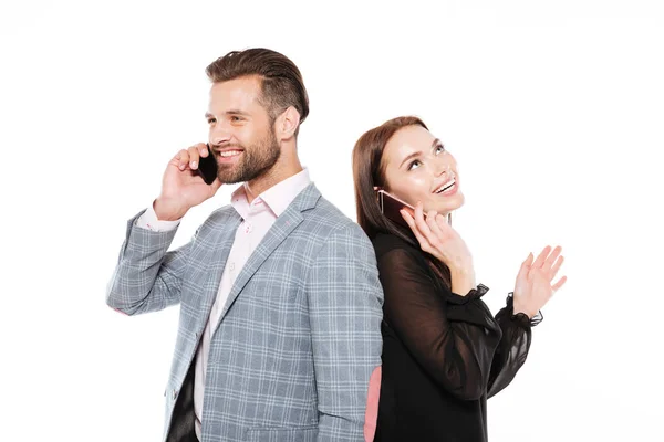
[[[240,155],[242,158],[237,165],[219,165],[217,177],[219,181],[227,185],[251,181],[260,177],[277,164],[281,155],[279,143],[277,143],[277,137],[272,130],[268,130],[262,140],[249,147],[242,145],[231,145],[229,147],[241,148],[242,154]]]

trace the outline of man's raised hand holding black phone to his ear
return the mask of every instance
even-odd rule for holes
[[[211,179],[210,160],[216,166],[212,152],[204,143],[183,149],[173,157],[162,179],[162,193],[153,206],[159,220],[179,220],[189,209],[217,193],[221,182],[216,178],[216,168],[215,178]],[[201,162],[206,162],[203,168]],[[209,185],[206,183],[199,168],[207,172]]]

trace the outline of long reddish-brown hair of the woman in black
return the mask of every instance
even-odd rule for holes
[[[428,130],[428,127],[418,117],[396,117],[366,131],[355,143],[355,147],[353,148],[355,204],[357,209],[357,223],[370,239],[373,240],[378,233],[393,234],[419,250],[419,243],[411,229],[401,227],[381,212],[375,190],[375,188],[387,188],[385,162],[383,161],[383,152],[385,151],[387,141],[400,129],[408,126],[421,126]],[[433,255],[424,251],[423,253],[429,266],[447,287],[450,288],[449,269]]]

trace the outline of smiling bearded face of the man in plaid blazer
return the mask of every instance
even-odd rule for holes
[[[281,147],[270,115],[260,104],[260,86],[259,77],[245,76],[210,88],[208,138],[221,182],[251,181],[279,159]]]

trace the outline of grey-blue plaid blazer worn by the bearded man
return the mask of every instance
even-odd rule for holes
[[[106,302],[127,315],[180,305],[166,439],[241,218],[230,206],[218,209],[168,252],[175,231],[137,228],[139,215],[127,224]],[[364,440],[382,305],[371,242],[311,183],[229,294],[210,344],[203,442]]]

